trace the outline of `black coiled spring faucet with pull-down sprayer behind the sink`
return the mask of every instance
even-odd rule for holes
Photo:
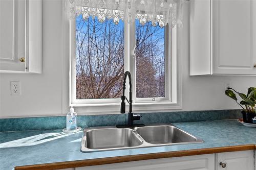
[[[126,84],[126,78],[129,78],[129,100],[124,95],[125,91],[125,84]],[[139,114],[133,114],[133,100],[132,100],[132,78],[131,73],[129,71],[126,71],[123,75],[123,94],[121,96],[121,113],[125,113],[125,100],[129,103],[129,112],[128,112],[128,122],[127,127],[134,127],[133,120],[139,120],[140,117],[142,117]],[[136,125],[136,126],[144,126],[144,125]]]

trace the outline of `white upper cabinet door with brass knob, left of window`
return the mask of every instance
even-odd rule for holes
[[[25,9],[25,0],[0,1],[0,70],[25,70]]]

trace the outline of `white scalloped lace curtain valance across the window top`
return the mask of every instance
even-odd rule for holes
[[[182,27],[184,0],[67,0],[68,15],[75,19],[82,15],[84,20],[90,16],[98,17],[100,22],[107,18],[118,24],[119,20],[128,23],[138,19],[141,25],[151,21],[161,28],[168,23],[172,28]]]

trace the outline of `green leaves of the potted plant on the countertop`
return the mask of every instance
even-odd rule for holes
[[[237,96],[234,92],[240,96],[242,99],[241,102],[238,102]],[[248,113],[255,113],[254,107],[256,105],[256,87],[250,87],[248,89],[247,95],[228,87],[227,90],[225,90],[225,94],[229,96],[229,98],[235,100],[237,104],[239,104],[244,109],[244,111]]]

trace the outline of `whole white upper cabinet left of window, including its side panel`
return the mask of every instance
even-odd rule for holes
[[[42,70],[41,0],[0,1],[0,72]]]

